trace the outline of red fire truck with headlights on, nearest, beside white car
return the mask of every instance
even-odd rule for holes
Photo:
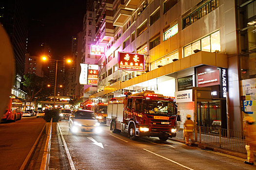
[[[155,136],[166,141],[176,136],[174,97],[146,90],[108,102],[107,125],[113,133],[127,132],[132,140],[139,136]]]

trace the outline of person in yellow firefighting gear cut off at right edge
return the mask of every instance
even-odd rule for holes
[[[244,119],[246,121],[245,127],[245,140],[247,161],[245,164],[254,165],[254,151],[256,150],[256,124],[255,120],[251,116],[247,116]]]

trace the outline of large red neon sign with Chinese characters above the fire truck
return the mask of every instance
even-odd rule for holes
[[[118,69],[144,71],[144,55],[130,52],[118,52]]]

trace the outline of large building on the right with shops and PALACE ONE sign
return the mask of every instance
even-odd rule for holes
[[[242,130],[244,116],[256,118],[255,1],[96,2],[96,44],[106,51],[98,61],[98,92],[90,98],[154,90],[175,96],[184,118],[197,108],[200,126]],[[145,62],[145,70],[118,69],[124,64],[119,51],[144,54],[138,64]],[[210,87],[212,100],[193,102],[193,86]],[[181,93],[191,96],[183,101]]]

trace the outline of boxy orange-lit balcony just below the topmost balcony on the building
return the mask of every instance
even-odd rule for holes
[[[132,11],[119,8],[118,11],[114,14],[113,25],[122,27],[123,23],[129,18],[132,17]]]

